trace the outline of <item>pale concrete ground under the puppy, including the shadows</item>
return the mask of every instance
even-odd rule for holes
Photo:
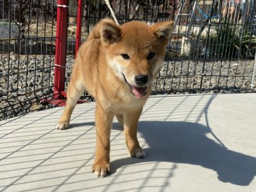
[[[145,159],[114,123],[112,173],[95,178],[95,103],[0,122],[0,191],[256,191],[256,94],[156,95],[139,122]]]

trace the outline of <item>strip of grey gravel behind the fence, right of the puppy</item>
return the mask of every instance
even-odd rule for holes
[[[254,60],[170,61],[162,65],[154,90],[174,93],[254,92],[255,89],[250,89],[253,65]]]

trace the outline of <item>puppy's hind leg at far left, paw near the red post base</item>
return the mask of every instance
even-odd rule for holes
[[[68,128],[68,125],[70,124],[71,114],[80,96],[82,95],[82,92],[84,91],[85,87],[82,84],[82,82],[74,82],[73,78],[71,78],[70,83],[68,85],[65,110],[63,112],[63,115],[60,117],[58,124],[56,125],[56,129]]]

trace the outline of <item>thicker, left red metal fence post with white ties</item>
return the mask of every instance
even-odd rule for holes
[[[53,97],[63,99],[65,88],[65,58],[68,29],[68,0],[57,0],[57,31],[55,46],[55,69]]]

